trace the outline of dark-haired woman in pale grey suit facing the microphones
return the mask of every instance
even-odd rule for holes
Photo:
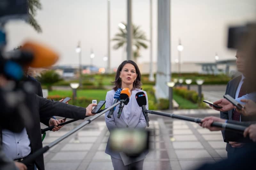
[[[146,128],[146,120],[142,113],[141,107],[137,104],[135,94],[137,92],[144,92],[146,94],[148,109],[147,93],[141,90],[141,75],[140,70],[135,62],[132,60],[121,63],[116,71],[115,87],[108,91],[106,95],[106,107],[109,107],[114,102],[114,94],[118,88],[129,88],[131,92],[130,101],[124,106],[120,118],[117,118],[117,110],[115,109],[111,118],[108,118],[108,112],[105,113],[105,121],[109,132],[115,128]],[[123,152],[113,152],[110,150],[109,140],[107,143],[105,153],[111,156],[114,170],[128,170],[136,167],[137,170],[142,170],[143,162],[147,152],[142,153],[136,159],[129,159]]]

